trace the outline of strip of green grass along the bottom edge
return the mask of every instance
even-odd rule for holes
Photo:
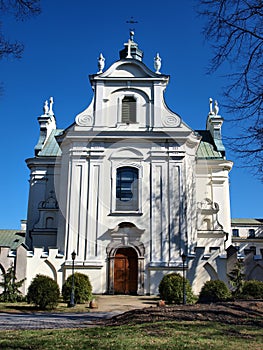
[[[67,330],[1,331],[0,349],[246,349],[261,350],[255,326],[215,322],[155,322]]]

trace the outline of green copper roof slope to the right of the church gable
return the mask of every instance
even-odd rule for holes
[[[202,137],[199,148],[197,150],[198,159],[224,159],[222,152],[216,149],[213,137],[208,130],[197,130]]]

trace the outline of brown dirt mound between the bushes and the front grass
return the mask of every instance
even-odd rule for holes
[[[156,321],[212,321],[233,325],[253,324],[263,327],[263,301],[235,301],[214,304],[148,307],[127,311],[105,321],[119,326]]]

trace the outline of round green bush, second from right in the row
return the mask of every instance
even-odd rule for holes
[[[223,281],[207,281],[199,294],[199,303],[216,303],[231,298],[231,292]]]

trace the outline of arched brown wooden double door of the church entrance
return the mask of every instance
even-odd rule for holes
[[[114,293],[137,294],[138,256],[133,248],[120,248],[114,258]]]

